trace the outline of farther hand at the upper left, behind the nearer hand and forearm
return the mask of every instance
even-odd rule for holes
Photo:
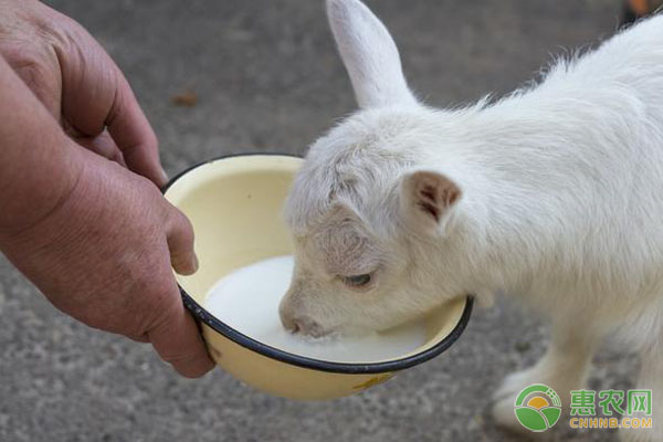
[[[126,78],[83,27],[36,0],[0,0],[0,55],[85,148],[157,186],[158,141]]]

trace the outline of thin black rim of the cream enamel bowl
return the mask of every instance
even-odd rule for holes
[[[204,166],[210,162],[215,162],[223,159],[236,158],[236,157],[251,157],[251,156],[280,156],[280,157],[288,157],[288,158],[301,158],[295,155],[288,154],[277,154],[277,152],[252,152],[252,154],[238,154],[238,155],[227,155],[217,158],[209,159],[207,161],[202,161],[198,165],[189,167],[188,169],[181,171],[176,175],[173,178],[168,181],[168,183],[161,189],[161,192],[166,194],[168,189],[181,177],[189,173],[193,169],[197,169],[201,166]],[[220,333],[225,336],[228,339],[233,343],[249,349],[255,351],[260,355],[266,356],[271,359],[278,360],[281,362],[285,362],[288,365],[307,368],[312,370],[318,371],[327,371],[335,373],[346,373],[346,375],[367,375],[367,373],[386,373],[392,371],[400,371],[406,368],[410,368],[417,366],[419,364],[425,362],[435,356],[439,356],[443,351],[445,351],[453,343],[455,343],[462,333],[464,332],[467,323],[470,322],[470,316],[472,315],[472,307],[474,305],[474,296],[469,295],[465,298],[465,307],[463,308],[463,314],[459,319],[457,324],[451,330],[449,335],[446,335],[441,341],[432,346],[431,348],[418,352],[412,356],[408,356],[406,358],[380,361],[380,362],[365,362],[365,364],[346,364],[346,362],[332,362],[320,359],[314,359],[306,356],[299,356],[292,352],[287,352],[284,350],[280,350],[278,348],[271,347],[266,344],[263,344],[259,340],[255,340],[234,328],[230,327],[222,320],[218,319],[215,316],[206,311],[200,304],[193,299],[191,295],[187,293],[179,284],[178,287],[180,290],[180,295],[182,297],[182,303],[185,307],[197,318],[199,322],[207,324],[214,332]]]

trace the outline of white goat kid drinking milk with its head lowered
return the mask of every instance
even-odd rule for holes
[[[654,389],[659,425],[623,438],[661,440],[663,17],[558,62],[536,87],[436,110],[409,91],[368,8],[327,7],[361,112],[311,147],[288,197],[284,325],[385,329],[504,292],[554,332],[546,356],[497,392],[501,423],[515,425],[515,394],[534,382],[568,402],[614,332],[642,354],[639,387]]]

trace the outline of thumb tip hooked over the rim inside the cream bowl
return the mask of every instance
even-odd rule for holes
[[[193,250],[193,227],[182,212],[169,204],[168,249],[172,269],[181,275],[198,271],[198,257]]]

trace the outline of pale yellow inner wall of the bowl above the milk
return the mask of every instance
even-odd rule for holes
[[[292,253],[282,207],[301,165],[302,159],[286,156],[224,158],[189,170],[168,188],[166,198],[193,224],[200,261],[194,275],[177,275],[177,281],[200,306],[210,288],[231,271]],[[465,303],[453,301],[428,315],[425,344],[400,358],[425,351],[450,335]]]

